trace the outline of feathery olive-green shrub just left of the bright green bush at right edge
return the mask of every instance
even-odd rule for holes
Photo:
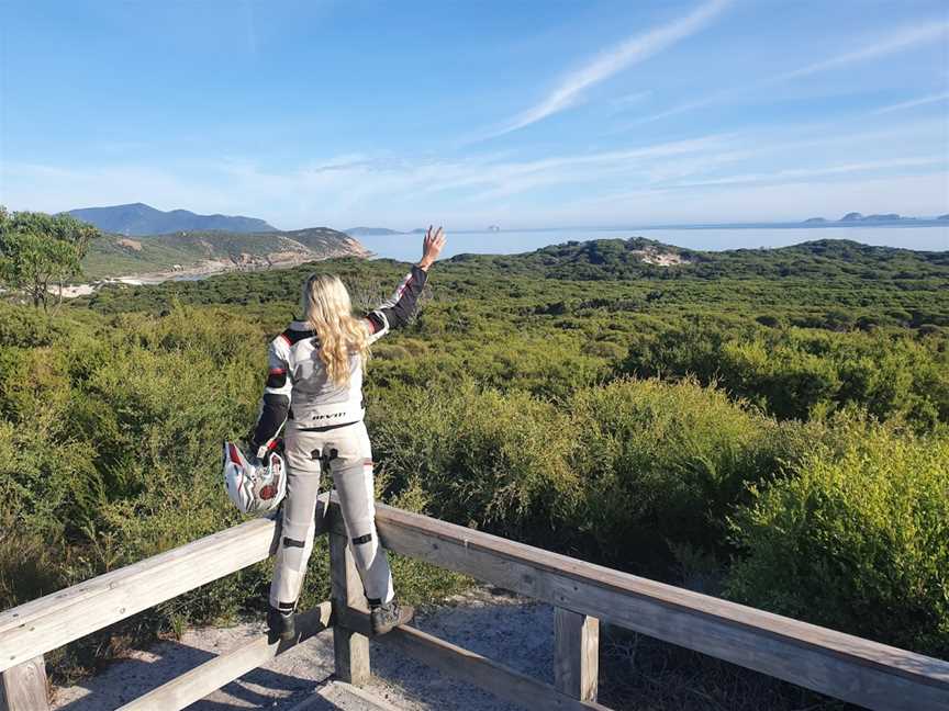
[[[714,552],[721,524],[748,482],[802,448],[801,426],[781,426],[686,379],[624,380],[570,403],[585,522],[596,555],[663,573],[670,542]]]

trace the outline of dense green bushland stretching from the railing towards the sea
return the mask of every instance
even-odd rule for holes
[[[707,573],[703,589],[945,654],[949,566],[925,524],[946,520],[945,257],[820,242],[663,271],[603,249],[435,269],[368,365],[380,497],[676,584]],[[220,443],[252,426],[267,342],[312,270],[366,306],[405,266],[112,286],[56,318],[0,304],[0,605],[241,520]],[[813,520],[784,541],[799,514]],[[838,548],[807,538],[822,531]],[[824,557],[791,556],[814,540]],[[781,545],[800,546],[788,569],[806,595],[773,577]],[[411,561],[397,576],[416,600],[464,585]],[[259,613],[268,578],[252,566],[141,622]],[[304,603],[325,595],[320,542]]]

